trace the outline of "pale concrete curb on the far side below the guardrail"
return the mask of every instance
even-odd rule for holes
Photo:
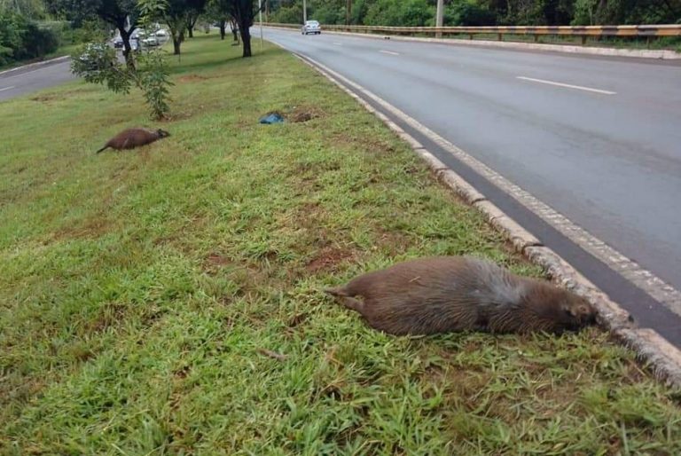
[[[263,28],[276,28],[278,30],[295,30],[294,28],[286,27],[270,27],[263,26]],[[599,55],[606,57],[628,57],[636,59],[660,59],[660,60],[678,60],[681,59],[681,53],[669,50],[647,50],[647,49],[616,49],[616,48],[597,48],[586,46],[574,46],[571,44],[546,44],[546,43],[515,43],[508,41],[488,41],[488,40],[462,40],[458,38],[421,38],[419,36],[399,36],[399,35],[372,35],[366,33],[356,32],[338,32],[335,30],[327,30],[325,34],[333,35],[348,35],[348,36],[364,36],[365,38],[374,38],[379,40],[389,39],[391,41],[408,41],[418,43],[438,43],[449,44],[451,46],[477,46],[477,47],[493,47],[514,49],[518,51],[551,51],[551,52],[565,52],[569,54],[583,54],[583,55]]]

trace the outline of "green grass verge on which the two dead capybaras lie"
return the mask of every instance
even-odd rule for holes
[[[414,256],[541,271],[285,51],[183,50],[138,151],[93,153],[154,125],[138,93],[0,104],[0,453],[681,452],[679,393],[595,328],[393,337],[332,303]]]

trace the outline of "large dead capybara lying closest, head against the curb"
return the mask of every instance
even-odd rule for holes
[[[596,317],[591,303],[566,289],[472,256],[397,263],[325,291],[361,313],[373,328],[398,335],[463,330],[560,334],[591,325]]]

